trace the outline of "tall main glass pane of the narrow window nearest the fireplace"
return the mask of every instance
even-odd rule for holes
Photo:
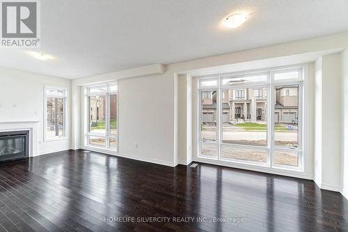
[[[64,136],[64,99],[47,98],[46,139]]]

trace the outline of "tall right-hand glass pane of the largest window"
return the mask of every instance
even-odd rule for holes
[[[274,144],[298,146],[299,85],[276,86],[274,105]]]

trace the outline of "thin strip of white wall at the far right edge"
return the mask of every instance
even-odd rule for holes
[[[348,49],[342,52],[342,194],[348,199]]]

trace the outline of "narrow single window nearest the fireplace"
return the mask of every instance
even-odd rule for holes
[[[65,137],[66,89],[45,86],[45,140]]]

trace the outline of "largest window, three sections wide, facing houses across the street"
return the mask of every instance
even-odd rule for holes
[[[302,82],[303,67],[198,78],[198,157],[303,170]]]

